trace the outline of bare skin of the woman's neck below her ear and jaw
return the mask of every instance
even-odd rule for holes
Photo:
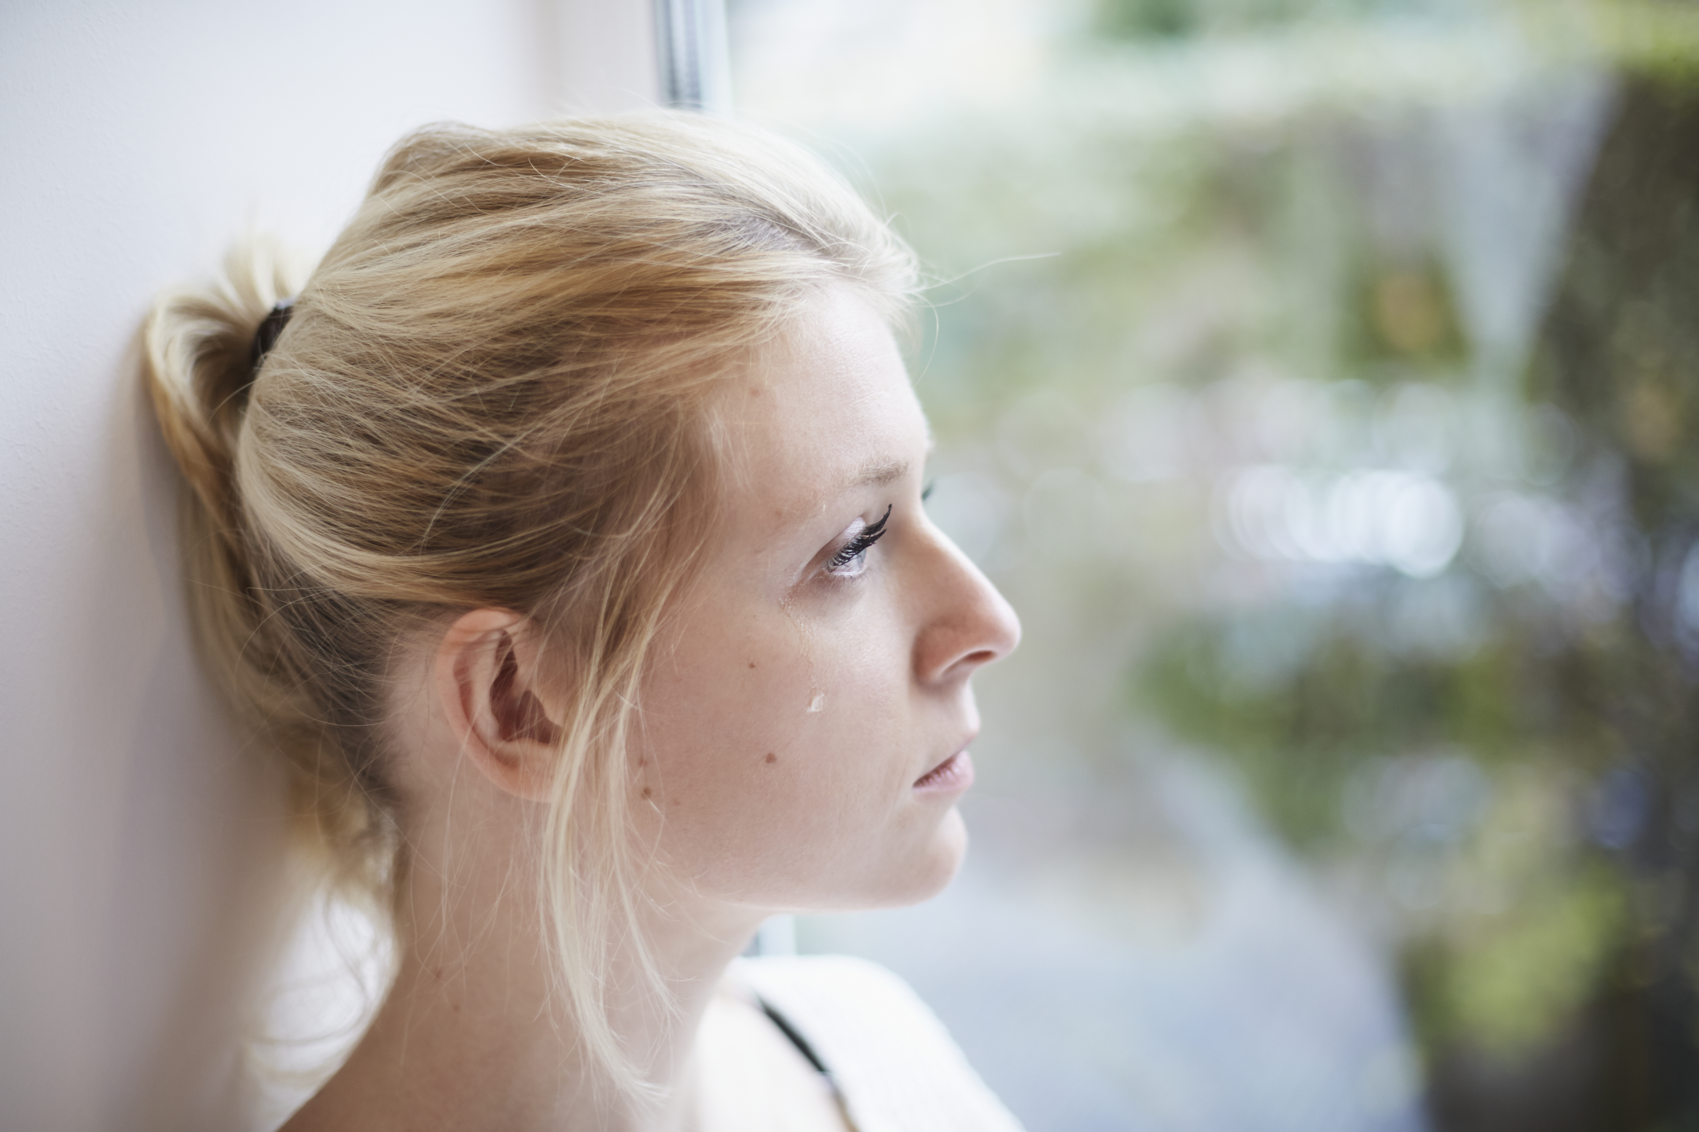
[[[658,991],[630,954],[615,955],[608,1020],[642,1059],[649,1096],[615,1088],[584,1054],[581,1030],[550,996],[537,910],[515,884],[481,894],[415,867],[398,925],[399,969],[365,1037],[289,1129],[693,1127],[697,1027],[725,966],[761,913],[676,893],[644,923],[664,978]],[[454,898],[445,899],[450,888]],[[505,891],[501,891],[505,889]],[[481,898],[488,896],[488,898]],[[299,1122],[299,1125],[297,1125]]]

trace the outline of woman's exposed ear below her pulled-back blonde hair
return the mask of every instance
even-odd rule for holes
[[[549,793],[559,723],[540,682],[535,623],[511,609],[474,609],[437,648],[437,696],[460,752],[498,789],[540,801]],[[559,708],[556,709],[559,713]]]

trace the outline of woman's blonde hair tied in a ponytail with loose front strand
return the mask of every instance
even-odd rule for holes
[[[641,1074],[603,1003],[613,940],[641,942],[625,743],[712,509],[705,399],[831,282],[895,317],[912,256],[761,131],[435,126],[389,153],[304,285],[250,251],[146,324],[148,387],[192,489],[202,652],[350,891],[392,910],[408,867],[382,726],[396,642],[494,606],[571,650],[544,933],[584,1049],[627,1088]],[[250,343],[284,295],[255,375]]]

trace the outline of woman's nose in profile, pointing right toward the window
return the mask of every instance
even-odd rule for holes
[[[926,526],[929,577],[921,589],[926,606],[914,642],[914,674],[923,684],[948,684],[1014,652],[1021,619],[948,535]]]

